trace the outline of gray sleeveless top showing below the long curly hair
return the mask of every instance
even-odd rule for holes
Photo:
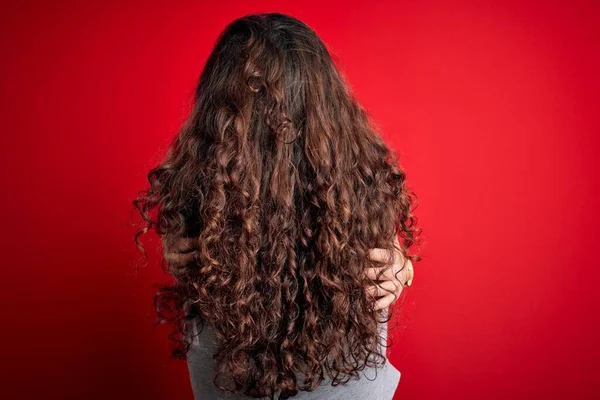
[[[382,324],[382,336],[387,340],[387,323]],[[197,331],[196,331],[197,333]],[[248,396],[229,395],[221,392],[213,383],[215,353],[214,332],[206,325],[191,343],[188,353],[188,370],[195,400],[242,400]],[[385,354],[385,348],[381,351]],[[366,368],[360,379],[350,380],[345,385],[331,386],[326,379],[313,392],[301,391],[292,397],[295,400],[391,400],[400,382],[400,371],[389,361],[380,368]],[[267,399],[266,397],[264,399]]]

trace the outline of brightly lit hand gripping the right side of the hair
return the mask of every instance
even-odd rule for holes
[[[366,271],[366,275],[373,280],[379,279],[377,284],[369,286],[367,288],[367,293],[378,298],[375,303],[375,310],[381,310],[383,308],[389,307],[393,304],[404,289],[404,286],[410,286],[412,284],[414,269],[412,262],[409,259],[406,259],[402,252],[400,251],[400,243],[398,242],[398,237],[396,237],[394,245],[396,250],[394,250],[394,260],[392,268],[388,266],[369,268]],[[369,250],[367,256],[374,261],[379,261],[383,263],[388,263],[388,253],[384,249],[371,249]],[[385,268],[389,268],[385,271],[380,277],[380,271]]]

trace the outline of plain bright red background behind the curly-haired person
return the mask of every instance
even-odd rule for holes
[[[258,11],[319,33],[419,195],[396,398],[598,395],[598,4],[3,5],[2,397],[191,399],[129,211],[217,34]]]

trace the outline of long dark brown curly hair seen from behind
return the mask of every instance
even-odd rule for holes
[[[326,45],[279,13],[231,22],[196,86],[192,110],[134,208],[163,246],[194,238],[197,257],[163,268],[159,320],[173,356],[214,327],[214,383],[285,399],[386,361],[364,275],[372,248],[409,254],[416,196],[396,153],[351,92]],[[156,211],[156,215],[151,215]],[[385,346],[385,344],[383,344]],[[304,379],[300,382],[297,373]]]

